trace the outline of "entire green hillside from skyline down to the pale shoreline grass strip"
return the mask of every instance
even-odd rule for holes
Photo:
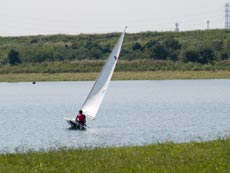
[[[0,73],[97,72],[120,33],[0,37]],[[230,31],[125,36],[117,71],[229,70]]]

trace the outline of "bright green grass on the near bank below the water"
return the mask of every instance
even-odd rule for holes
[[[0,154],[1,173],[230,172],[230,139]]]

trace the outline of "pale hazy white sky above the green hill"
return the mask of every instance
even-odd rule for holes
[[[224,28],[230,0],[0,0],[0,36]]]

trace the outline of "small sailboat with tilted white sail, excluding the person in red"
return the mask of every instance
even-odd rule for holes
[[[111,81],[115,66],[118,61],[118,57],[120,55],[126,28],[127,27],[125,27],[123,33],[121,34],[112,52],[110,53],[104,67],[102,68],[99,76],[97,77],[97,80],[95,81],[84,104],[81,107],[83,114],[90,119],[95,119],[100,105],[103,101],[103,98],[105,96],[106,90]],[[77,128],[80,130],[86,129],[86,125],[78,123],[77,121],[75,121],[75,118],[66,118],[66,121],[72,128]]]

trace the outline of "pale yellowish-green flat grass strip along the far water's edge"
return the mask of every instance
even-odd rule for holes
[[[87,81],[95,80],[98,72],[87,73],[9,73],[0,74],[0,82]],[[113,80],[164,79],[229,79],[230,71],[145,71],[115,72]]]

